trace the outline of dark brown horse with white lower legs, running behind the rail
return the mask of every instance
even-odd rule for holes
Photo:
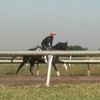
[[[30,50],[42,50],[41,48],[31,48],[29,49]],[[55,46],[52,47],[52,50],[68,50],[68,43],[67,42],[59,42],[57,43]],[[12,59],[11,59],[11,62],[13,62],[13,60],[15,59],[16,56],[13,56]],[[60,76],[60,73],[56,67],[56,64],[57,62],[61,62],[59,61],[59,56],[53,56],[53,60],[52,60],[52,65],[57,73],[58,76]],[[36,63],[38,65],[38,68],[39,68],[39,63],[45,63],[45,60],[44,60],[44,56],[41,56],[41,55],[32,55],[32,56],[23,56],[23,61],[22,63],[19,65],[17,71],[16,71],[16,75],[18,74],[19,70],[26,64],[26,63],[29,63],[30,64],[30,68],[29,68],[29,71],[31,72],[32,75],[34,75],[32,69],[34,67],[34,64]],[[63,63],[63,62],[62,62]],[[64,63],[63,63],[64,64]]]

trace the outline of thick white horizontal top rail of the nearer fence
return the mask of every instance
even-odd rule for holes
[[[0,51],[0,55],[100,55],[100,51]]]

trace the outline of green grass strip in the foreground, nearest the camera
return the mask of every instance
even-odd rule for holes
[[[0,86],[0,100],[100,100],[100,84]]]

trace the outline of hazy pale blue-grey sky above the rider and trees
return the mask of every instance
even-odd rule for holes
[[[27,50],[52,31],[53,45],[100,48],[100,0],[0,0],[0,50]]]

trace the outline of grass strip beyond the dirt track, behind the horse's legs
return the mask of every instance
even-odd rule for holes
[[[19,64],[0,64],[0,75],[14,75]],[[62,64],[58,64],[57,68],[61,75],[87,75],[88,65],[80,65],[75,64],[68,67],[66,71]],[[36,74],[37,67],[35,65],[33,72]],[[100,65],[90,65],[91,75],[100,75]],[[40,64],[40,74],[46,75],[47,73],[47,65]],[[19,75],[29,75],[31,74],[29,71],[29,66],[24,66],[18,73]],[[54,68],[52,67],[51,75],[56,75]]]

